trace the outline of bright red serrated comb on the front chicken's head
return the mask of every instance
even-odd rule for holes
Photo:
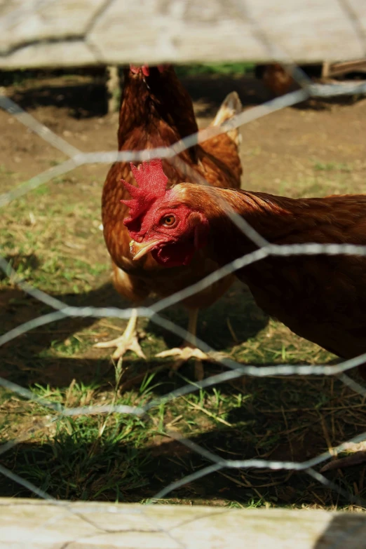
[[[131,200],[121,200],[121,203],[130,208],[130,215],[126,219],[126,223],[148,210],[156,198],[164,196],[168,183],[168,177],[163,172],[163,163],[160,158],[142,162],[138,168],[133,163],[130,163],[130,166],[137,187],[121,179],[121,183],[132,197]]]

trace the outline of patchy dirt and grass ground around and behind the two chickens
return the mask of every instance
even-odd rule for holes
[[[210,122],[225,95],[232,90],[238,91],[245,109],[252,109],[270,97],[261,83],[249,77],[195,76],[184,79],[184,85],[194,99],[201,127]],[[107,102],[104,86],[96,84],[92,79],[64,76],[25,81],[17,87],[7,88],[6,94],[36,120],[81,151],[116,149],[118,114],[105,114]],[[365,193],[365,116],[366,100],[348,98],[339,102],[301,104],[245,124],[241,128],[242,187],[287,196]],[[0,193],[65,160],[60,151],[34,135],[14,116],[0,111],[0,125]],[[0,220],[1,243],[6,257],[11,260],[18,274],[54,297],[65,299],[69,304],[120,304],[109,283],[109,259],[100,231],[100,193],[108,167],[103,164],[86,165],[58,177],[9,205]],[[47,307],[18,290],[12,280],[9,283],[3,278],[1,282],[0,277],[0,283],[1,332],[48,311]],[[168,318],[181,325],[186,322],[185,314],[179,308],[168,312]],[[233,358],[244,363],[324,363],[333,358],[266,318],[242,286],[233,288],[219,304],[204,311],[200,318],[198,335],[215,348],[230,351]],[[0,376],[25,387],[32,386],[44,398],[67,405],[116,402],[109,351],[97,350],[93,348],[93,343],[115,336],[121,326],[123,323],[114,320],[67,319],[34,330],[32,334],[15,339],[1,351]],[[151,323],[144,323],[142,327],[145,332],[143,348],[149,357],[149,365],[154,367],[157,365],[154,352],[179,341],[163,330],[152,327]],[[146,370],[146,363],[140,362],[131,361],[136,368],[133,370],[133,379],[135,374],[140,375],[142,370]],[[209,370],[209,374],[219,371],[214,368]],[[191,372],[183,370],[183,374],[189,376]],[[137,378],[140,383],[141,376],[137,375]],[[99,385],[93,385],[95,379]],[[154,382],[156,380],[160,386],[154,391],[158,394],[174,388],[175,383],[187,382],[185,378],[173,382],[165,374],[154,378]],[[306,394],[301,397],[304,387]],[[127,390],[127,386],[123,390]],[[238,391],[238,386],[235,390]],[[141,397],[138,391],[133,398]],[[186,408],[168,410],[164,425],[184,414],[187,417],[194,414],[194,421],[198,421],[197,409],[200,414],[204,409],[201,423],[197,423],[201,431],[192,431],[193,423],[187,419],[187,428],[191,429],[191,436],[196,442],[225,456],[271,456],[273,459],[295,461],[304,459],[304,456],[319,454],[330,445],[347,440],[360,433],[365,425],[362,398],[337,380],[271,379],[264,384],[262,380],[248,379],[243,381],[240,391],[239,398],[233,393],[232,386],[222,388],[222,397],[215,396],[221,402],[221,412],[215,408],[214,393],[209,393],[205,402],[196,402],[191,398],[189,405],[187,402],[182,404]],[[236,400],[240,404],[233,404]],[[352,402],[351,412],[345,415],[341,410],[346,409],[349,402]],[[212,419],[214,408],[218,414],[215,417],[219,417],[215,419],[216,423]],[[41,414],[39,407],[25,412],[24,402],[8,393],[0,398],[0,416],[1,410],[4,440],[23,435]],[[330,423],[327,424],[327,421]],[[223,427],[222,422],[226,422],[226,426]],[[149,432],[149,436],[146,436],[143,452],[138,454],[139,463],[142,463],[140,469],[143,470],[143,482],[140,479],[140,484],[136,484],[135,480],[129,480],[128,488],[124,492],[122,490],[123,498],[127,501],[141,501],[144,497],[142,494],[151,496],[161,484],[175,480],[180,475],[179,463],[186,458],[184,471],[186,474],[191,472],[191,453],[187,449],[182,452],[177,442],[164,438],[163,429],[159,431],[157,424],[154,423],[154,433]],[[217,431],[217,426],[220,431]],[[187,431],[184,433],[187,434]],[[42,438],[43,435],[46,438]],[[67,446],[69,442],[61,444],[58,440],[59,449],[62,447],[64,453],[60,451],[57,454],[59,450],[55,450],[55,446],[46,451],[43,445],[45,441],[53,445],[55,431],[43,429],[43,435],[28,445],[18,445],[18,453],[6,454],[4,464],[15,472],[28,475],[33,482],[36,481],[32,477],[34,473],[29,473],[27,468],[29,463],[46,463],[53,456],[59,470],[60,463],[67,461],[65,456],[71,455],[74,449],[71,452],[70,446]],[[128,444],[128,459],[134,460],[138,445],[135,440]],[[85,445],[83,447],[83,442],[80,442],[80,447],[86,453],[95,448],[94,442],[90,440]],[[29,458],[30,455],[34,461]],[[57,461],[59,459],[61,462]],[[113,459],[116,459],[115,456]],[[123,463],[128,463],[128,459]],[[147,468],[143,466],[145,461],[149,463]],[[202,461],[194,461],[194,468],[201,466]],[[121,470],[116,466],[113,466],[114,474],[111,475],[110,469],[103,469],[102,461],[98,463],[96,467],[102,470],[102,479],[108,475],[115,475],[118,479],[121,477]],[[100,493],[102,480],[96,477],[97,480],[89,485],[89,481],[85,480],[87,474],[81,484],[88,484],[88,490],[83,492],[78,487],[73,492],[68,484],[65,492],[59,494],[56,465],[53,471],[55,486],[45,484],[42,477],[45,489],[57,497],[97,499],[95,494]],[[155,477],[156,466],[160,472]],[[162,467],[167,468],[166,473],[161,473]],[[126,471],[123,471],[126,475]],[[136,473],[138,478],[139,474]],[[337,477],[337,474],[334,473],[334,478],[342,486],[349,486],[350,492],[362,494],[365,491],[365,470],[362,482],[357,471],[349,473],[348,484],[343,476]],[[294,478],[288,482],[289,473],[280,473],[280,479],[268,471],[256,475],[243,476],[235,472],[226,477],[213,476],[206,483],[201,480],[189,484],[186,492],[179,494],[182,498],[195,501],[210,499],[216,503],[224,502],[217,504],[236,500],[245,506],[257,505],[250,501],[257,501],[258,505],[271,501],[273,505],[282,502],[283,505],[298,506],[305,502],[311,506],[333,508],[338,504],[337,496],[332,499],[330,492],[323,488],[320,490],[315,482],[306,484],[304,479],[300,481]],[[79,478],[75,484],[78,482]],[[356,489],[353,490],[355,484]],[[149,488],[146,488],[147,485]],[[277,488],[277,485],[280,487]],[[217,496],[217,487],[222,496]],[[116,495],[110,485],[108,489],[105,496],[107,499],[119,497],[119,492]],[[238,489],[239,492],[241,490],[239,496]],[[17,490],[9,482],[4,484],[1,495],[18,494]],[[218,497],[222,497],[222,500]]]

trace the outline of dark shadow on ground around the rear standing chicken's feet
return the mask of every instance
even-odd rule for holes
[[[34,259],[32,259],[34,261]],[[98,287],[96,290],[81,294],[53,295],[70,306],[93,307],[129,307],[123,301],[110,283]],[[50,306],[29,297],[21,290],[8,289],[0,292],[0,325],[1,332],[6,333],[18,325],[28,322],[39,316],[50,313]],[[173,306],[162,311],[162,316],[175,322],[181,327],[187,327],[187,311],[182,306]],[[110,319],[114,322],[114,319]],[[222,299],[209,309],[203,310],[199,316],[198,337],[217,351],[229,352],[235,342],[243,343],[262,330],[268,317],[257,308],[246,287],[237,283]],[[101,351],[93,347],[93,332],[83,345],[85,352],[75,358],[70,348],[70,356],[52,356],[47,351],[57,342],[67,341],[76,332],[90,328],[92,330],[95,318],[65,318],[49,325],[36,327],[19,337],[9,341],[0,348],[1,367],[0,376],[5,377],[22,386],[32,384],[49,384],[50,386],[67,387],[73,379],[84,384],[90,381],[109,383],[114,379],[114,370],[109,359],[109,350]],[[162,340],[168,348],[177,346],[182,340],[151,320],[140,322],[144,325],[144,332],[149,334],[149,340],[154,344],[156,339]],[[123,323],[121,324],[121,332]],[[104,339],[110,339],[107,337]],[[114,332],[113,337],[116,337]],[[235,339],[233,339],[235,337]],[[236,341],[235,341],[236,340]],[[100,341],[100,339],[98,340]],[[148,345],[148,342],[147,342]],[[147,347],[147,353],[149,348]],[[130,360],[126,356],[126,362]],[[154,358],[154,349],[148,362],[136,360],[130,374],[143,374],[148,369],[161,365],[161,359]],[[190,369],[187,370],[190,372]],[[209,370],[210,371],[210,370]],[[140,377],[137,377],[140,379]]]

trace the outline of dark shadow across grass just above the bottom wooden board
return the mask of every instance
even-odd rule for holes
[[[271,391],[283,392],[280,380],[267,381],[271,384]],[[264,381],[256,380],[251,390],[255,387],[261,393]],[[220,390],[226,393],[230,387],[220,386]],[[327,394],[329,391],[330,386]],[[288,402],[283,395],[281,398],[286,409]],[[326,415],[323,413],[323,419]],[[235,414],[227,416],[228,426],[219,425],[205,433],[189,435],[189,440],[224,459],[264,458],[301,462],[325,450],[324,436],[319,428],[321,412],[319,416],[316,421],[309,413],[288,416],[287,426],[283,424],[283,432],[276,436],[276,423],[283,421],[276,409],[261,412],[259,408],[251,410],[250,406],[243,405],[235,409]],[[100,416],[100,425],[104,418]],[[182,442],[158,434],[157,428],[149,445],[138,445],[136,439],[129,440],[128,435],[126,440],[111,440],[118,433],[118,427],[126,431],[126,421],[130,421],[131,431],[137,438],[139,430],[154,429],[154,424],[149,425],[149,419],[144,419],[142,424],[141,420],[114,415],[113,433],[106,431],[100,437],[97,435],[100,425],[91,429],[90,418],[75,418],[68,428],[53,435],[52,442],[20,443],[4,453],[0,463],[57,499],[146,501],[170,483],[184,479],[182,486],[165,494],[164,499],[211,505],[234,501],[243,506],[257,506],[264,501],[275,506],[318,506],[319,503],[332,506],[336,502],[342,506],[350,503],[347,496],[331,492],[304,471],[223,468],[200,478],[187,477],[199,473],[212,462]],[[348,426],[346,434],[351,436],[354,431],[354,427]],[[356,486],[362,497],[365,492],[364,473],[365,467],[353,467],[345,473],[332,471],[327,476],[350,496],[352,487]],[[0,496],[29,497],[32,492],[6,478],[1,482]]]

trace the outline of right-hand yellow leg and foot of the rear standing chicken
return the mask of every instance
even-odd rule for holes
[[[192,334],[194,339],[196,339],[197,318],[198,318],[198,309],[189,309],[189,321],[188,321],[187,331],[190,334]],[[182,346],[174,347],[174,348],[168,349],[167,351],[162,351],[161,353],[158,353],[155,356],[157,358],[166,358],[168,356],[177,357],[177,360],[173,362],[170,368],[170,376],[174,374],[174,372],[177,372],[177,370],[179,370],[179,368],[184,364],[184,362],[187,362],[187,360],[189,360],[190,358],[196,358],[196,362],[194,365],[194,377],[198,381],[201,381],[201,379],[203,379],[203,376],[204,376],[202,361],[213,360],[213,358],[210,355],[208,355],[207,353],[203,353],[201,349],[197,348],[190,341],[184,341]]]

